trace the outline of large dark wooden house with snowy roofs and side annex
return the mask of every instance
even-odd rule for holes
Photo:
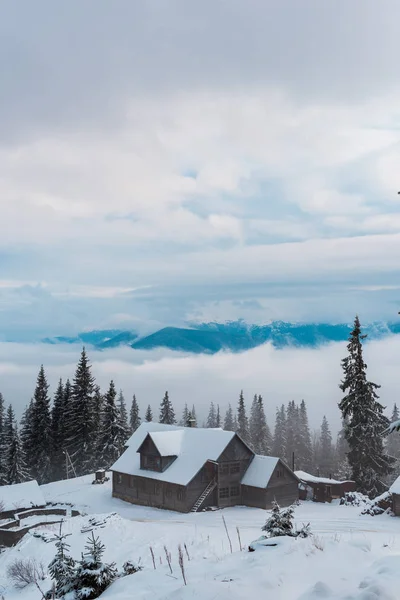
[[[298,498],[298,479],[257,456],[234,432],[142,423],[111,468],[113,496],[179,512],[208,506],[269,508]]]

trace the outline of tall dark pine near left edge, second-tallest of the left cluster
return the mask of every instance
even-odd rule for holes
[[[30,439],[26,456],[31,457],[28,470],[38,483],[51,481],[51,415],[49,384],[43,365],[37,377],[32,408],[29,411],[31,421]]]

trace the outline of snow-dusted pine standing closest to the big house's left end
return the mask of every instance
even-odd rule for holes
[[[114,382],[110,381],[108,392],[104,396],[101,431],[98,438],[97,462],[102,468],[111,467],[124,450],[126,430],[121,426],[119,410],[116,404],[117,392]]]

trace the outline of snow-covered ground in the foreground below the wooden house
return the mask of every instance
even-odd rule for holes
[[[236,507],[223,511],[181,515],[135,507],[111,497],[110,483],[91,485],[82,477],[43,486],[47,501],[72,503],[85,516],[67,519],[71,553],[79,557],[89,519],[106,545],[105,560],[118,566],[139,561],[140,573],[115,582],[104,594],[116,600],[398,600],[400,598],[400,518],[360,516],[360,508],[304,502],[296,508],[298,525],[310,523],[314,537],[285,540],[276,548],[247,552],[261,535],[267,513]],[[222,522],[225,517],[233,553]],[[244,550],[239,550],[239,528]],[[58,526],[45,526],[44,532]],[[178,545],[186,544],[187,586],[178,565]],[[150,546],[153,548],[154,570]],[[171,575],[164,546],[172,555]],[[39,599],[33,586],[19,591],[7,580],[6,568],[16,557],[35,557],[47,565],[54,542],[27,535],[0,555],[0,586],[6,599]],[[43,582],[50,588],[50,580]],[[1,589],[0,589],[1,592]]]

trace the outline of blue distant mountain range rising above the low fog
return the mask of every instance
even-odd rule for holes
[[[191,324],[188,327],[164,327],[149,335],[119,329],[88,331],[74,337],[45,338],[46,344],[85,344],[99,350],[130,346],[134,350],[168,348],[194,354],[215,354],[221,350],[242,352],[270,342],[275,348],[287,346],[315,348],[330,342],[347,340],[352,325],[327,323],[285,323],[249,325],[244,321]],[[363,328],[368,339],[400,333],[400,323],[372,323]]]

